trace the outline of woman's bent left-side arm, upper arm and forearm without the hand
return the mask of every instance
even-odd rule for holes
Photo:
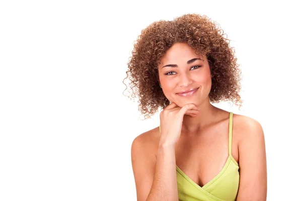
[[[138,136],[131,147],[137,200],[178,200],[175,146],[160,144],[154,156],[145,144]]]

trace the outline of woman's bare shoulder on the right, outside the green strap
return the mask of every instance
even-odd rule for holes
[[[234,114],[233,124],[234,133],[237,134],[239,143],[264,137],[261,124],[251,117]]]

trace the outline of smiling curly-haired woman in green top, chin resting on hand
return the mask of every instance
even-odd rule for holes
[[[187,14],[142,30],[128,62],[131,95],[160,126],[131,147],[137,200],[266,200],[264,134],[241,106],[240,69],[223,31]]]

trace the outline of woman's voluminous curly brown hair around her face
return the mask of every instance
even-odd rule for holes
[[[210,102],[230,100],[242,106],[241,70],[235,50],[224,35],[217,23],[198,14],[186,14],[173,21],[160,20],[141,31],[134,42],[124,80],[130,80],[128,92],[131,97],[138,97],[138,110],[145,119],[170,104],[159,84],[158,65],[165,52],[178,42],[187,43],[196,54],[207,57],[213,76]]]

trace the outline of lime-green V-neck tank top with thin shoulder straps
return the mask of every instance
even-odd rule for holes
[[[201,187],[176,166],[178,198],[180,201],[236,200],[239,188],[239,165],[232,157],[233,113],[230,113],[229,123],[229,157],[222,170],[212,180]]]

